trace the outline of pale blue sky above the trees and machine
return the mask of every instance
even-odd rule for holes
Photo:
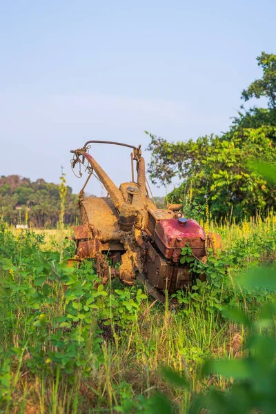
[[[261,75],[255,58],[276,52],[275,14],[272,0],[2,0],[0,175],[58,182],[62,164],[77,192],[70,149],[88,139],[145,148],[144,130],[226,130]],[[91,153],[117,184],[130,179],[128,150]],[[88,191],[101,194],[96,179]]]

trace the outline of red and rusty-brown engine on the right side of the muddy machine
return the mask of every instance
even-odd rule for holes
[[[206,262],[206,235],[197,221],[184,217],[160,219],[161,210],[150,212],[148,233],[150,242],[146,256],[148,282],[160,290],[175,292],[188,288],[195,275],[190,272],[189,264],[181,264],[181,249],[189,246],[192,254]],[[168,210],[170,211],[170,210]],[[197,275],[199,277],[199,275]],[[201,275],[204,279],[204,275]]]

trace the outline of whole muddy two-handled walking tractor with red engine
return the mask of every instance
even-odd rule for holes
[[[131,181],[122,183],[119,188],[115,186],[89,153],[91,144],[95,143],[131,148]],[[190,286],[195,275],[187,264],[180,263],[181,248],[188,243],[193,255],[206,262],[209,244],[215,247],[213,237],[206,235],[197,221],[182,216],[181,204],[172,204],[166,209],[155,206],[148,193],[141,146],[88,141],[83,148],[71,152],[74,154],[72,168],[79,164],[88,171],[79,193],[81,226],[74,228],[75,260],[95,259],[103,283],[110,275],[118,275],[127,285],[134,284],[137,276],[144,277],[151,293],[159,299],[165,289],[172,293]],[[92,175],[106,188],[106,197],[84,197],[84,189]],[[219,237],[216,239],[218,245]],[[204,275],[201,278],[204,279]]]

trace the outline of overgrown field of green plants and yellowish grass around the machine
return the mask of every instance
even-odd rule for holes
[[[276,219],[204,226],[224,246],[207,265],[191,263],[198,273],[204,266],[207,281],[162,305],[138,285],[110,279],[102,286],[91,262],[68,268],[70,228],[15,231],[2,223],[0,412],[203,413],[199,395],[213,404],[210,390],[232,389],[234,372],[203,375],[202,367],[248,356],[246,321],[256,321],[275,295],[236,281],[275,264]],[[226,306],[237,315],[224,313]],[[258,329],[275,335],[274,324]]]

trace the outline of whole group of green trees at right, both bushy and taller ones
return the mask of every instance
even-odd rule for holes
[[[189,211],[207,202],[217,219],[244,219],[275,210],[276,184],[267,182],[252,162],[276,168],[276,55],[262,52],[257,62],[262,78],[242,91],[242,99],[264,97],[267,108],[241,106],[227,132],[195,141],[170,142],[146,132],[151,139],[151,181],[162,185],[175,177],[180,181],[167,201],[183,202]]]

